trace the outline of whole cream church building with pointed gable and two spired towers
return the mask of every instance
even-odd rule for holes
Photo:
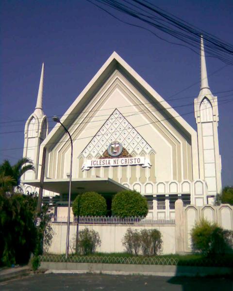
[[[177,199],[195,206],[214,202],[221,192],[218,106],[202,39],[200,59],[195,130],[116,52],[109,57],[61,117],[73,140],[71,201],[87,191],[109,199],[132,189],[147,197],[153,219],[173,219]],[[33,160],[35,172],[27,172],[22,183],[25,192],[38,192],[46,148],[44,196],[59,195],[61,208],[67,207],[71,144],[60,124],[48,133],[43,75],[44,65],[24,133],[23,156]]]

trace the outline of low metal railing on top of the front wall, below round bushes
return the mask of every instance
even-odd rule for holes
[[[54,216],[51,219],[52,223],[66,223],[67,216]],[[143,225],[174,225],[174,219],[148,219],[145,217],[115,217],[115,216],[71,216],[70,223],[80,224],[143,224]]]

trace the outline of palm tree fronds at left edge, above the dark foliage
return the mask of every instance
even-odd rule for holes
[[[33,161],[29,158],[22,158],[13,166],[8,160],[5,160],[0,164],[0,188],[5,190],[8,187],[8,191],[11,193],[15,189],[20,190],[20,179],[29,170],[35,170]]]

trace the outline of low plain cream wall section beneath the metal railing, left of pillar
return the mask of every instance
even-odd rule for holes
[[[67,225],[61,223],[51,224],[54,235],[52,244],[49,249],[51,254],[65,254],[66,252],[66,234]],[[163,239],[163,254],[175,253],[175,225],[79,225],[79,231],[85,227],[94,229],[100,235],[101,245],[97,248],[97,252],[103,253],[117,253],[124,252],[125,248],[122,245],[122,239],[126,230],[131,227],[132,229],[158,229],[162,234]],[[69,240],[69,252],[75,252],[77,225],[70,225],[70,240]]]

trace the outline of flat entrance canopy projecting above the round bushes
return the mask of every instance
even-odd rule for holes
[[[24,180],[22,183],[34,187],[40,187],[40,180]],[[45,179],[43,188],[51,192],[67,194],[69,191],[69,178]],[[71,182],[71,194],[80,194],[91,191],[100,194],[116,194],[122,190],[129,190],[129,188],[110,178],[74,178]]]

